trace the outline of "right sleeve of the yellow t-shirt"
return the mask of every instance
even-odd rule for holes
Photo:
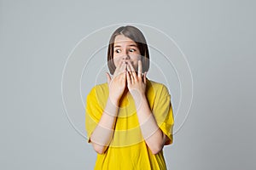
[[[172,144],[173,136],[172,129],[174,125],[171,95],[166,86],[162,86],[160,94],[156,95],[153,108],[154,118],[162,130],[166,134],[166,144]]]

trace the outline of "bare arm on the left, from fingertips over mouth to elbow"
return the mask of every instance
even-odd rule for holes
[[[125,70],[125,62],[120,62],[113,74],[112,79],[108,73],[106,74],[109,89],[108,101],[100,121],[98,122],[93,133],[90,135],[92,146],[98,154],[103,154],[108,149],[108,145],[113,139],[116,116],[118,116],[119,111],[119,99],[125,91]]]

